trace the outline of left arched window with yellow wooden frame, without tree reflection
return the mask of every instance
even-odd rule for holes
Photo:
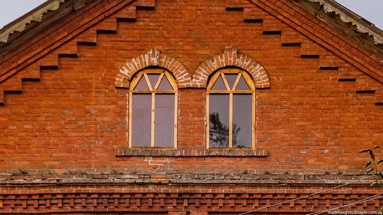
[[[130,85],[130,147],[176,148],[177,83],[162,69],[136,74]]]

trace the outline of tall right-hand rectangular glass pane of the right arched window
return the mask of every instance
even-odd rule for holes
[[[251,148],[251,94],[233,95],[233,147]]]

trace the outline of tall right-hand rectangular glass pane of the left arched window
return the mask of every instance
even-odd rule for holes
[[[174,94],[155,95],[155,146],[174,147]]]

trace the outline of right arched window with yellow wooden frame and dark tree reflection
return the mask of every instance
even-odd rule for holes
[[[247,72],[223,69],[208,83],[207,148],[254,148],[255,87]]]

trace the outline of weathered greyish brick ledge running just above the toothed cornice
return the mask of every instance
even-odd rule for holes
[[[7,177],[5,177],[7,176]],[[45,178],[43,178],[45,176]],[[5,177],[5,178],[3,178]],[[0,185],[6,184],[167,184],[167,183],[189,183],[189,184],[344,184],[350,180],[356,180],[353,184],[369,184],[370,180],[361,180],[364,175],[347,174],[240,174],[240,173],[209,173],[204,170],[194,173],[186,171],[171,171],[171,173],[123,173],[104,174],[93,173],[79,174],[74,171],[72,175],[0,175]]]

